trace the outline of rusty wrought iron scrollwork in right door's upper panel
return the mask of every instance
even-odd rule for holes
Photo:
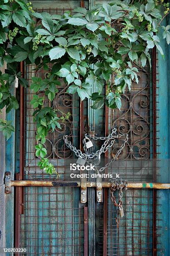
[[[148,159],[150,157],[150,87],[147,70],[139,70],[139,83],[133,82],[132,90],[122,95],[122,108],[112,110],[111,123],[119,133],[129,134],[129,140],[119,159]],[[112,148],[116,154],[121,139]]]

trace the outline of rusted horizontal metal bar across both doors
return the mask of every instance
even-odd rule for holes
[[[102,182],[102,187],[111,187],[111,182]],[[8,187],[81,187],[80,181],[34,181],[12,180]],[[7,186],[6,186],[7,187]],[[87,182],[87,187],[96,187],[96,182]],[[134,183],[128,182],[128,188],[170,189],[170,183]]]

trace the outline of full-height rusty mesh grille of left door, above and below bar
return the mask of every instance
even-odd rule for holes
[[[52,14],[63,14],[71,9],[37,10]],[[36,20],[39,23],[38,20]],[[49,69],[55,65],[48,64]],[[45,67],[25,66],[25,77],[29,87],[25,92],[25,167],[24,179],[46,180],[56,179],[55,175],[43,173],[38,168],[39,159],[35,156],[36,126],[33,122],[33,106],[30,101],[33,91],[30,90],[31,77],[46,79]],[[51,103],[58,109],[58,117],[63,113],[71,113],[62,129],[49,132],[45,147],[47,157],[56,166],[60,179],[66,179],[65,161],[73,158],[72,152],[63,143],[63,135],[69,135],[74,145],[79,145],[79,98],[66,92],[68,86],[60,80],[58,93]],[[44,96],[40,92],[39,96]],[[45,96],[43,106],[50,106]],[[60,112],[61,111],[61,112]],[[24,209],[20,216],[20,246],[27,248],[27,255],[84,255],[84,205],[81,205],[79,188],[74,187],[30,187],[24,188]]]

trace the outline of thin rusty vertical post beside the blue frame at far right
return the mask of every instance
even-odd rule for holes
[[[156,47],[152,50],[152,87],[153,87],[153,181],[156,182],[156,158],[157,158],[157,115],[156,115]],[[153,256],[157,256],[157,233],[156,233],[156,189],[153,189]]]

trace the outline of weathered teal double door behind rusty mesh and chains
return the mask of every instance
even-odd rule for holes
[[[106,1],[96,1],[96,3]],[[37,9],[43,7],[44,11],[50,13],[63,13],[63,10],[71,10],[84,4],[86,8],[91,8],[94,1],[33,1],[33,6]],[[57,7],[57,9],[56,9]],[[40,11],[40,10],[39,10]],[[37,20],[38,22],[38,20]],[[165,47],[164,47],[165,48]],[[166,49],[165,49],[166,50]],[[161,60],[160,60],[161,61]],[[168,67],[168,63],[166,63]],[[50,64],[49,64],[50,66]],[[53,67],[51,67],[53,68]],[[80,130],[84,132],[95,131],[98,136],[105,136],[112,127],[116,127],[119,133],[128,133],[129,140],[119,160],[116,161],[110,173],[119,173],[123,179],[145,180],[144,174],[150,175],[152,182],[153,175],[149,173],[149,159],[153,158],[153,83],[152,71],[149,68],[139,69],[139,84],[132,85],[131,92],[123,95],[121,111],[107,110],[105,107],[100,110],[92,110],[89,106],[91,102],[84,102],[84,123],[80,127],[80,102],[77,96],[66,93],[67,85],[61,80],[58,87],[59,93],[53,101],[55,108],[61,109],[64,113],[70,112],[71,118],[63,124],[61,131],[56,130],[48,135],[46,148],[48,158],[58,168],[59,179],[68,180],[69,175],[65,169],[66,159],[72,159],[74,155],[63,143],[63,135],[70,135],[74,146],[80,146]],[[166,70],[162,71],[165,73]],[[32,76],[45,78],[46,70],[35,71],[35,66],[25,66],[25,77],[30,82]],[[165,74],[167,76],[167,74]],[[161,75],[160,80],[163,75]],[[95,88],[94,88],[95,90]],[[25,91],[25,114],[24,114],[24,179],[26,180],[49,180],[57,177],[45,174],[38,168],[38,159],[35,157],[34,145],[35,125],[33,123],[32,108],[30,100],[33,93],[28,88]],[[162,100],[163,102],[163,100]],[[48,105],[48,100],[45,102]],[[163,104],[163,103],[162,103]],[[161,106],[160,106],[161,108]],[[107,114],[108,113],[108,114]],[[10,119],[11,117],[8,116]],[[16,115],[16,128],[21,117]],[[160,122],[164,122],[161,119]],[[81,124],[82,125],[82,124]],[[18,129],[19,130],[19,127]],[[107,131],[108,130],[108,131]],[[160,133],[162,131],[160,130]],[[16,135],[15,145],[19,148],[18,135]],[[12,137],[12,140],[14,138]],[[9,143],[11,143],[11,139]],[[123,140],[116,141],[108,157],[114,157],[115,153],[122,145]],[[161,144],[162,145],[162,144]],[[95,151],[101,146],[95,144]],[[165,145],[168,147],[167,145]],[[160,151],[166,150],[161,146]],[[11,148],[7,147],[9,155]],[[158,153],[158,152],[156,152]],[[19,172],[19,152],[15,157],[15,170]],[[11,163],[7,163],[9,166]],[[144,168],[145,167],[145,168]],[[145,171],[143,171],[145,169]],[[22,191],[23,198],[16,198],[16,202],[23,202],[19,215],[15,215],[16,228],[19,228],[18,246],[27,248],[27,255],[169,255],[168,242],[165,239],[167,231],[165,225],[166,214],[161,215],[160,205],[163,201],[164,212],[166,200],[169,192],[158,192],[155,194],[152,189],[128,189],[123,196],[124,218],[120,220],[117,228],[116,208],[111,202],[109,190],[104,189],[104,201],[96,202],[96,189],[88,189],[88,199],[85,204],[80,202],[80,189],[74,187],[25,187]],[[159,194],[161,200],[159,199]],[[168,194],[168,195],[167,195]],[[13,198],[8,200],[7,209],[10,208]],[[157,215],[155,217],[156,205]],[[85,211],[88,211],[88,233],[86,233]],[[10,212],[11,219],[13,213]],[[7,221],[9,228],[9,221]],[[155,230],[156,228],[156,230]],[[154,233],[156,231],[156,233]],[[160,236],[161,234],[161,236]],[[10,245],[10,238],[14,237],[13,232],[7,234],[7,242]],[[88,238],[87,248],[84,247],[85,238]],[[156,243],[155,243],[156,239]],[[15,238],[15,246],[16,246]],[[10,246],[9,246],[10,247]],[[163,248],[163,249],[162,249]]]

